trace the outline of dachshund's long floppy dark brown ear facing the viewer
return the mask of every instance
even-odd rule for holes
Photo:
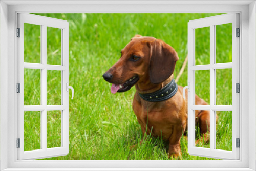
[[[179,57],[173,47],[162,40],[156,39],[150,43],[150,81],[161,83],[173,74]]]

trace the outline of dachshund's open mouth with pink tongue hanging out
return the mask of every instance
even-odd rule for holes
[[[112,84],[111,93],[115,94],[116,92],[118,93],[126,92],[130,90],[134,86],[134,84],[138,82],[138,80],[139,80],[138,76],[133,76],[123,84]]]

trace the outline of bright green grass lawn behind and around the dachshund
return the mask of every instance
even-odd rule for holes
[[[125,93],[111,94],[111,84],[104,81],[102,74],[120,57],[120,50],[135,34],[153,36],[164,40],[178,52],[179,61],[174,75],[177,76],[187,55],[187,23],[189,20],[217,14],[39,14],[68,20],[70,23],[70,85],[75,93],[70,94],[70,151],[67,156],[48,158],[51,160],[168,160],[168,143],[161,138],[148,136],[136,150],[130,146],[137,144],[143,135],[132,110],[135,88]],[[229,26],[223,26],[217,34],[228,33]],[[40,62],[40,28],[25,25],[25,61]],[[201,32],[201,36],[209,31]],[[47,61],[59,63],[60,35],[47,32]],[[228,37],[225,37],[228,38]],[[230,38],[230,37],[229,37]],[[225,40],[225,39],[224,39]],[[209,45],[201,38],[197,48],[197,65],[206,63]],[[217,61],[230,62],[230,46],[217,37]],[[39,47],[39,49],[38,49]],[[219,53],[220,52],[220,53]],[[220,104],[231,105],[232,88],[228,70],[217,72],[217,98]],[[198,76],[198,75],[197,75]],[[48,104],[59,104],[60,77],[51,72],[48,79]],[[197,94],[209,102],[209,74],[197,77]],[[40,72],[25,70],[25,104],[40,104]],[[180,78],[179,85],[187,85],[187,68]],[[231,101],[230,101],[231,100]],[[39,104],[38,104],[39,103]],[[25,115],[25,149],[40,147],[40,121],[38,112]],[[219,113],[217,124],[217,147],[232,149],[232,115]],[[48,115],[47,146],[59,146],[59,115]],[[35,131],[37,130],[37,131]],[[38,131],[39,130],[39,131]],[[190,156],[187,153],[187,140],[181,138],[183,160],[205,160],[209,158]],[[209,147],[206,144],[205,147]],[[210,159],[209,159],[210,160]]]

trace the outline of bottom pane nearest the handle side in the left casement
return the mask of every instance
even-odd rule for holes
[[[47,111],[47,148],[61,146],[61,111]]]

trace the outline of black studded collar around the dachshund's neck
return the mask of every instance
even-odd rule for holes
[[[164,101],[169,98],[172,98],[177,91],[178,91],[178,85],[173,79],[160,90],[157,90],[153,93],[146,93],[146,94],[139,93],[139,95],[143,100],[150,101],[150,102],[159,102],[159,101]]]

